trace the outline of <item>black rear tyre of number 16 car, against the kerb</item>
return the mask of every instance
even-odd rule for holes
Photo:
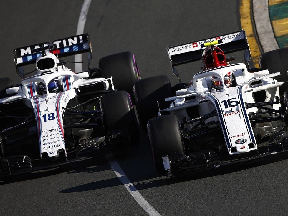
[[[262,54],[259,58],[259,65],[262,70],[268,69],[269,74],[280,72],[281,75],[275,77],[278,82],[288,81],[288,48],[276,49]],[[288,83],[280,86],[280,95],[283,95],[287,88]]]

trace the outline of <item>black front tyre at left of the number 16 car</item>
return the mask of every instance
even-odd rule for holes
[[[184,154],[180,123],[175,115],[158,116],[149,120],[147,130],[155,168],[163,174],[163,155],[175,152]]]

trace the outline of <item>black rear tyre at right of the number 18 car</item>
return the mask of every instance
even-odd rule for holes
[[[99,70],[104,78],[112,76],[115,89],[124,90],[131,96],[133,95],[132,87],[140,79],[134,54],[121,52],[103,57],[99,60]]]

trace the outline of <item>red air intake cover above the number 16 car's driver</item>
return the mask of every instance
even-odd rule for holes
[[[214,49],[216,50],[218,61],[216,60],[216,62],[214,62],[211,53],[211,46],[207,47],[202,56],[202,65],[204,66],[202,71],[228,65],[224,52],[218,46],[214,46]]]

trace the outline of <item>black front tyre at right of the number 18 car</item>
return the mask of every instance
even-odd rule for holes
[[[130,145],[139,141],[139,129],[130,95],[125,91],[105,94],[100,99],[105,132],[114,129],[128,131]]]

